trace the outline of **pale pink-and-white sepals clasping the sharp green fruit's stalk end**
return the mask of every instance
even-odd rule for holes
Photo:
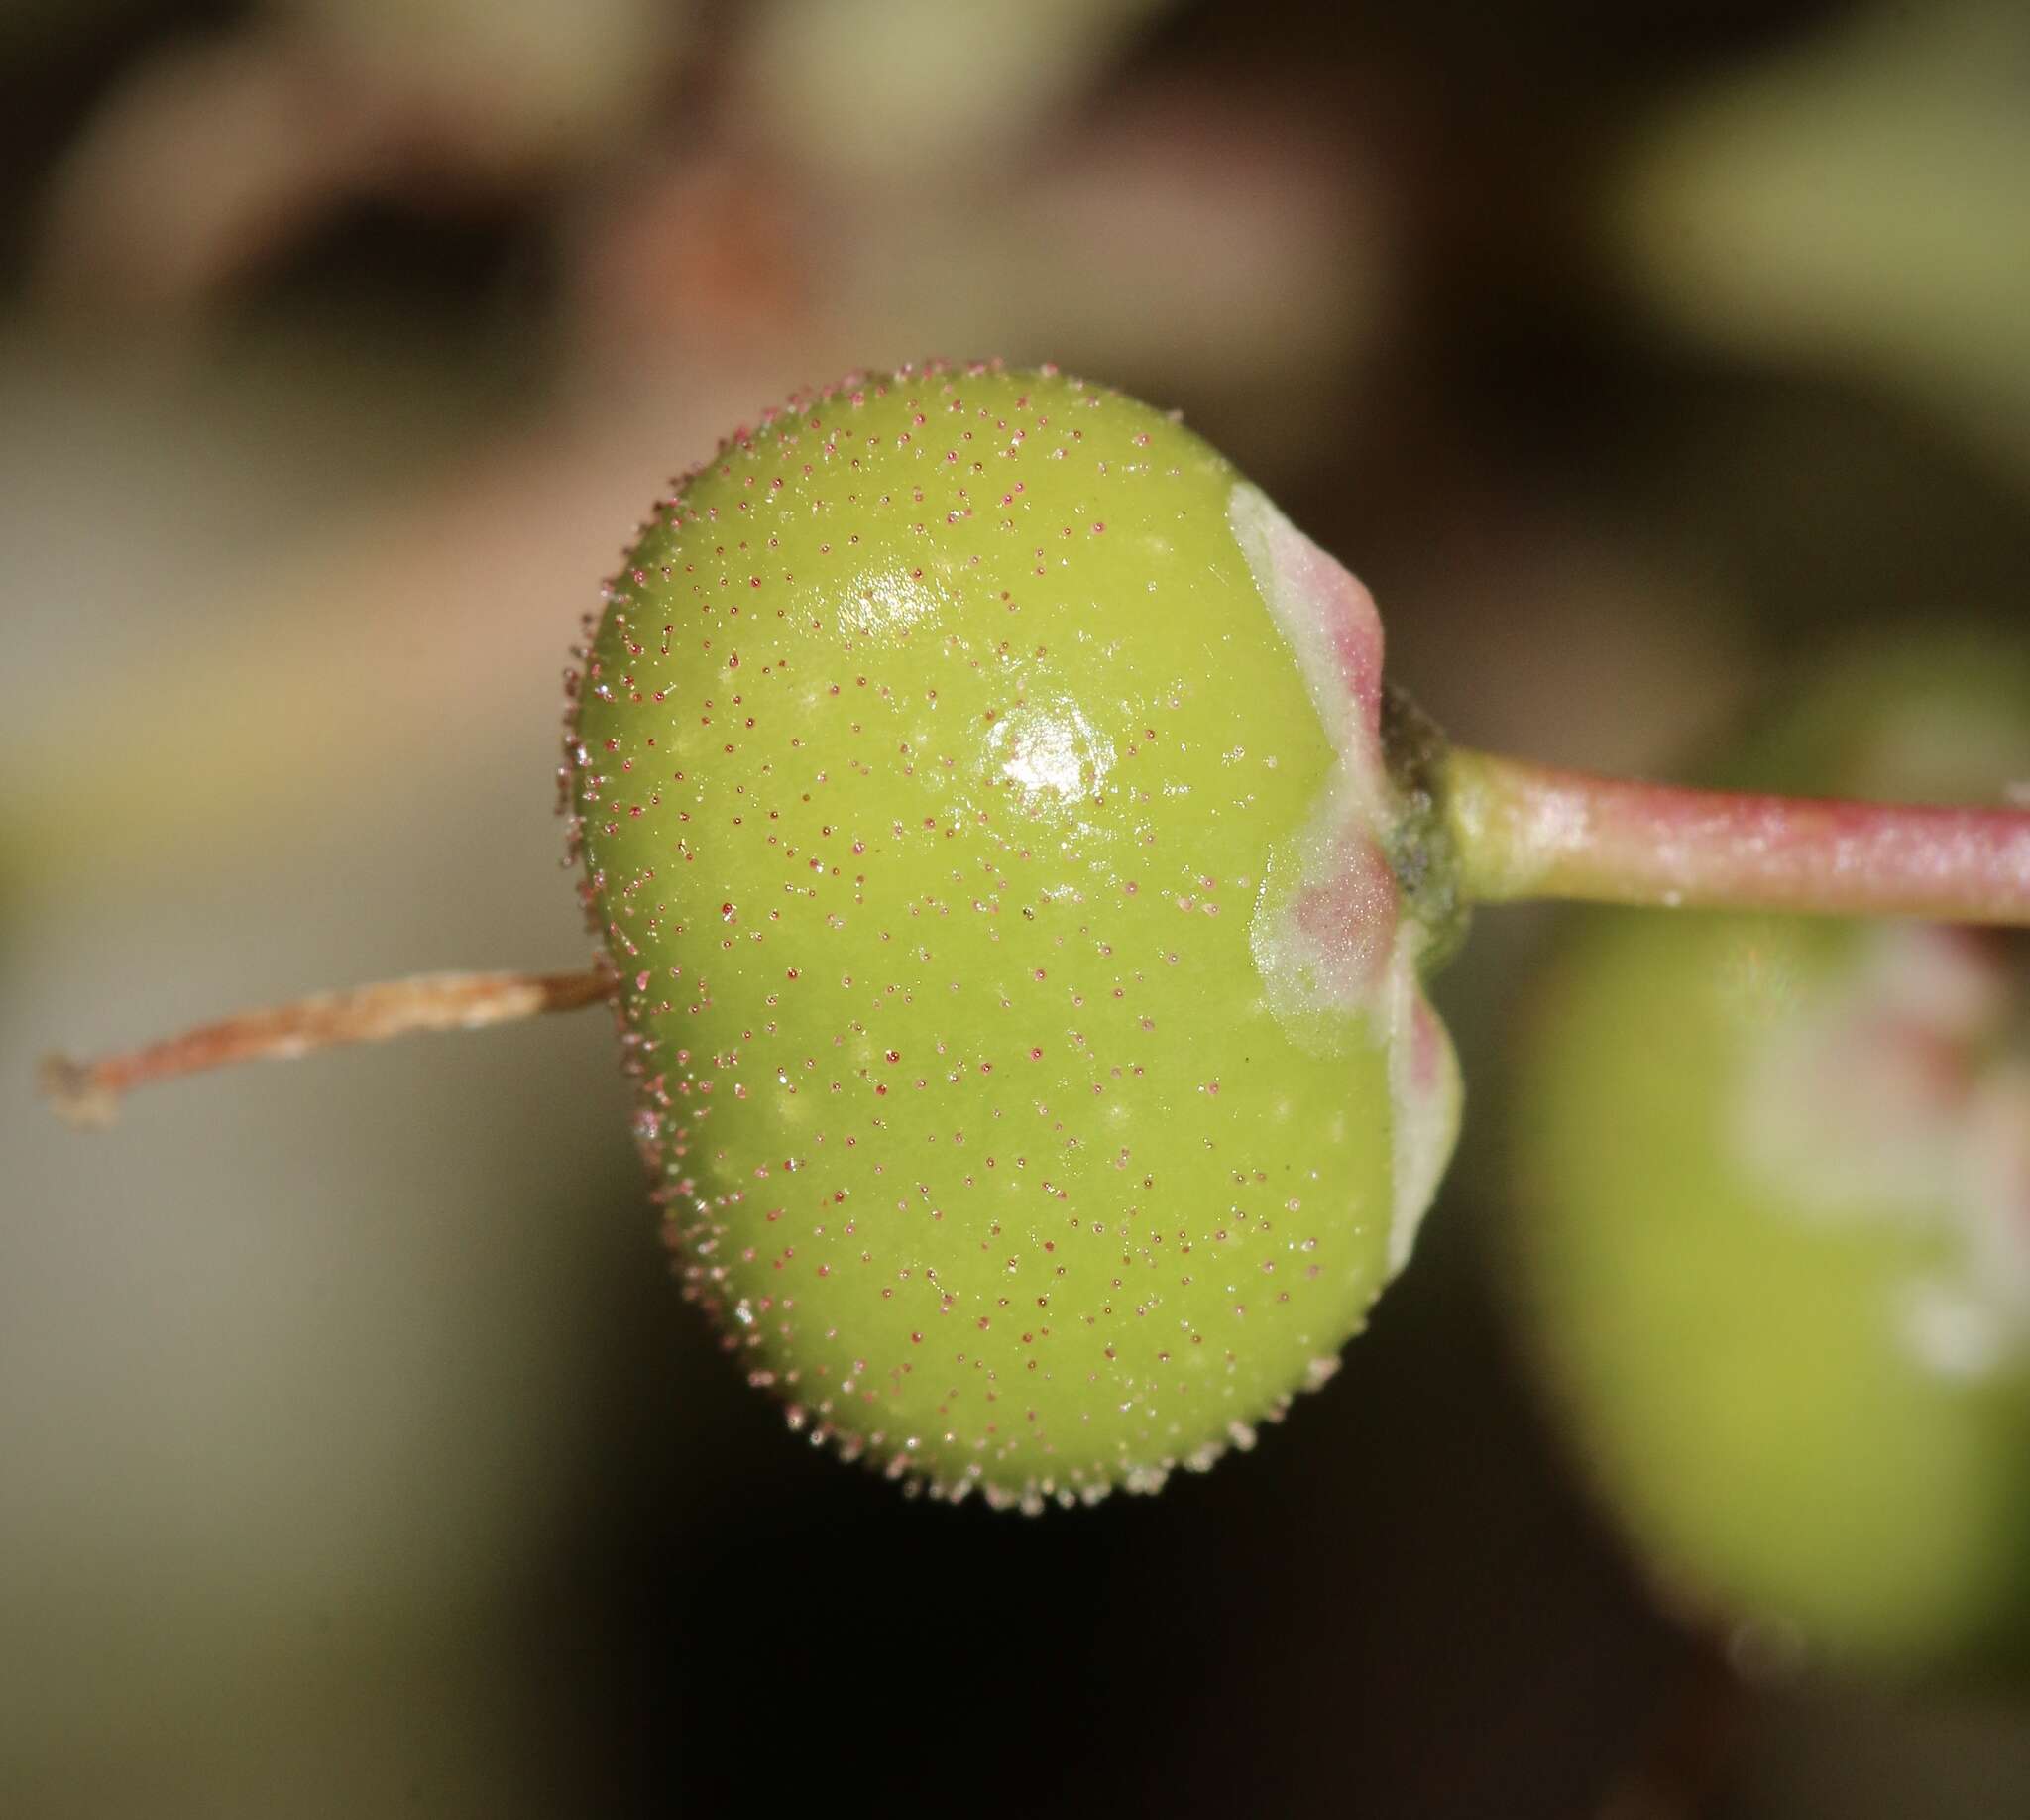
[[[1255,965],[1295,1038],[1332,1042],[1352,1018],[1386,1048],[1397,1272],[1451,1158],[1462,1089],[1451,1038],[1423,993],[1427,932],[1405,914],[1389,863],[1401,810],[1382,758],[1382,622],[1358,577],[1255,488],[1234,488],[1226,518],[1338,754],[1309,825],[1271,859]]]

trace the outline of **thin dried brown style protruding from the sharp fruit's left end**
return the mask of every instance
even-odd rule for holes
[[[577,1012],[611,999],[615,987],[603,967],[587,973],[420,973],[240,1012],[91,1062],[45,1056],[39,1081],[59,1117],[73,1125],[110,1125],[122,1095],[154,1081],[231,1062],[292,1060],[347,1042],[386,1042],[412,1030],[483,1030],[540,1012]]]

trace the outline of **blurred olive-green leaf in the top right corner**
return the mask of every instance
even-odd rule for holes
[[[1898,6],[1669,114],[1618,223],[1695,333],[1835,366],[2030,479],[2030,12]]]

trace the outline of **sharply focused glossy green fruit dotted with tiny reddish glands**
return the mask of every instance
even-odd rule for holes
[[[1033,1509],[1334,1369],[1460,1107],[1382,707],[1360,583],[1056,370],[855,376],[656,508],[572,829],[670,1243],[792,1426]]]

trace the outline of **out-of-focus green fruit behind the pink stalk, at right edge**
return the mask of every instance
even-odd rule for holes
[[[2030,650],[1821,666],[1723,782],[1993,800]],[[2030,953],[1585,912],[1516,1066],[1514,1261],[1665,1588],[1817,1660],[2030,1666]]]

